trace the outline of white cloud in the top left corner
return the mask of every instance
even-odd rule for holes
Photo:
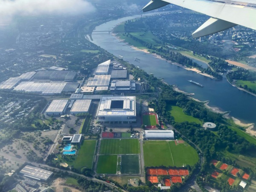
[[[93,5],[85,0],[0,0],[0,22],[19,15],[79,15],[94,10]]]

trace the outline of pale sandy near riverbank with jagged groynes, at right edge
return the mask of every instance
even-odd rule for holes
[[[183,94],[189,94],[189,93],[186,93],[185,91],[183,90],[180,90],[177,86],[174,86],[173,87],[173,90],[179,92],[179,93],[183,93]],[[236,125],[239,125],[241,127],[244,127],[245,128],[245,132],[247,134],[250,134],[252,136],[256,136],[256,128],[254,127],[254,123],[243,123],[241,122],[239,119],[236,119],[235,117],[233,116],[230,116],[230,111],[221,111],[220,108],[217,108],[217,107],[211,107],[209,106],[209,101],[200,101],[198,99],[195,99],[193,97],[189,97],[189,99],[192,99],[196,102],[201,102],[201,103],[204,103],[204,106],[209,109],[210,111],[212,112],[215,112],[215,113],[220,113],[223,115],[224,118],[226,119],[232,119],[233,122],[236,124]]]

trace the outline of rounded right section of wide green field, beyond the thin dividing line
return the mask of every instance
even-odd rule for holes
[[[183,165],[194,165],[198,162],[199,157],[197,152],[192,146],[187,143],[180,143],[175,145],[174,141],[169,142],[172,157],[176,167],[182,167]]]

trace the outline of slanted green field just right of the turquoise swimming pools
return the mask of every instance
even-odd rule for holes
[[[83,167],[87,167],[88,169],[92,168],[95,146],[96,140],[82,141],[81,148],[79,149],[76,160],[73,163],[74,168],[79,170]]]

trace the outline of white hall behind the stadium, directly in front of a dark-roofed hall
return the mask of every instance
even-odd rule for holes
[[[135,81],[122,81],[122,80],[113,80],[111,82],[111,91],[135,91],[136,90]]]

